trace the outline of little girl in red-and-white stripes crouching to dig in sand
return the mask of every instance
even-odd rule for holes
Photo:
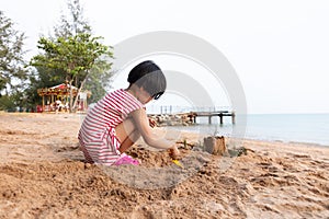
[[[154,148],[170,149],[180,155],[174,142],[157,137],[146,115],[145,104],[158,100],[166,90],[163,72],[154,61],[143,61],[128,74],[129,87],[106,94],[87,114],[79,142],[87,162],[104,165],[139,162],[124,152],[141,136]]]

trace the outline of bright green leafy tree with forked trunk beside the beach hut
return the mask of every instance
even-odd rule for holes
[[[32,66],[44,66],[53,69],[63,69],[66,80],[70,85],[70,112],[76,110],[78,95],[73,101],[72,85],[78,88],[78,94],[82,90],[91,69],[95,65],[104,65],[106,58],[113,57],[111,47],[101,44],[102,37],[93,37],[91,34],[77,34],[68,38],[58,37],[56,42],[42,37],[38,48],[44,54],[31,59]],[[111,64],[110,64],[111,66]]]

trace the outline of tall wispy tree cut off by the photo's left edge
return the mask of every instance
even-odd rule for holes
[[[24,33],[15,31],[13,22],[0,11],[0,92],[18,87],[20,80],[26,79],[23,60]],[[19,85],[21,85],[19,83]]]

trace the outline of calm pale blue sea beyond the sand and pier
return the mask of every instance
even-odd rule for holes
[[[253,114],[219,119],[196,118],[195,126],[171,127],[175,130],[239,137],[254,140],[313,143],[329,147],[329,114]]]

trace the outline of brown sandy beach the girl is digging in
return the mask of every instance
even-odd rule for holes
[[[0,218],[329,217],[329,147],[227,139],[247,152],[219,157],[182,132],[183,168],[143,141],[140,166],[102,168],[83,162],[81,119],[0,113]]]

